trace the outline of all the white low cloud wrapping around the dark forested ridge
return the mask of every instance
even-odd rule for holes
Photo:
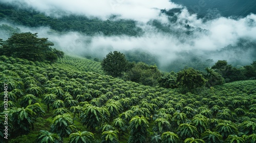
[[[4,0],[3,2],[9,3],[10,1]],[[31,31],[38,33],[39,37],[48,37],[57,47],[67,53],[82,53],[84,55],[96,55],[102,58],[114,50],[143,49],[158,56],[161,64],[166,64],[177,58],[182,58],[176,54],[181,51],[197,49],[204,54],[203,51],[206,50],[216,51],[229,44],[236,45],[240,39],[256,41],[255,14],[250,14],[239,19],[217,17],[205,21],[205,19],[197,18],[196,14],[190,14],[186,8],[168,0],[24,0],[24,2],[48,15],[53,15],[54,10],[65,11],[67,14],[76,13],[89,17],[99,17],[101,19],[107,19],[111,14],[115,14],[119,15],[119,18],[136,20],[138,26],[145,32],[140,37],[103,36],[100,34],[87,36],[78,32],[59,35],[51,33],[50,28],[46,27],[31,29],[23,26],[15,26],[23,32]],[[168,21],[168,16],[161,13],[160,9],[169,10],[173,8],[182,8],[182,10],[180,13],[175,14],[177,21],[171,23]],[[163,25],[169,25],[170,29],[179,31],[182,34],[159,31],[154,26],[147,24],[148,21],[153,19],[159,20]],[[194,27],[194,29],[203,29],[203,31],[194,30],[193,34],[187,35],[185,34],[185,25]],[[227,55],[226,57],[230,59],[232,55]],[[225,55],[208,58],[225,60]],[[245,61],[251,63],[248,57]]]

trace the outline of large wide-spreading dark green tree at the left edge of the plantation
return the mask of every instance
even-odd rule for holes
[[[64,53],[52,49],[54,45],[48,42],[48,38],[37,38],[37,33],[15,33],[3,45],[3,55],[14,58],[22,58],[31,61],[55,62],[58,57],[63,57]]]

